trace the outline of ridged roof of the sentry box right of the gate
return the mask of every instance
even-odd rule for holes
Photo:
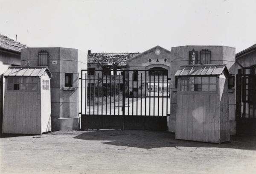
[[[215,65],[180,65],[175,76],[204,76],[204,75],[220,75],[224,69],[227,70],[224,64]],[[228,70],[227,70],[228,72]],[[229,74],[229,72],[228,72]]]

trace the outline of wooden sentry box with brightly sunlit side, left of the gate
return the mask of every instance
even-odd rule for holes
[[[3,133],[50,132],[52,74],[47,66],[9,67],[4,77]]]

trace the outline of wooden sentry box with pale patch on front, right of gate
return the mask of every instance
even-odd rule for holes
[[[230,141],[226,65],[181,65],[175,76],[175,138],[210,143]]]

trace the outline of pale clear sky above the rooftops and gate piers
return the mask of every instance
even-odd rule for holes
[[[0,0],[0,34],[29,47],[137,53],[256,44],[256,0]]]

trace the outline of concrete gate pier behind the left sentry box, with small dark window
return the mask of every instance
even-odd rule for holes
[[[25,48],[21,65],[48,66],[51,79],[52,131],[80,128],[79,77],[87,69],[87,53],[71,48]]]

